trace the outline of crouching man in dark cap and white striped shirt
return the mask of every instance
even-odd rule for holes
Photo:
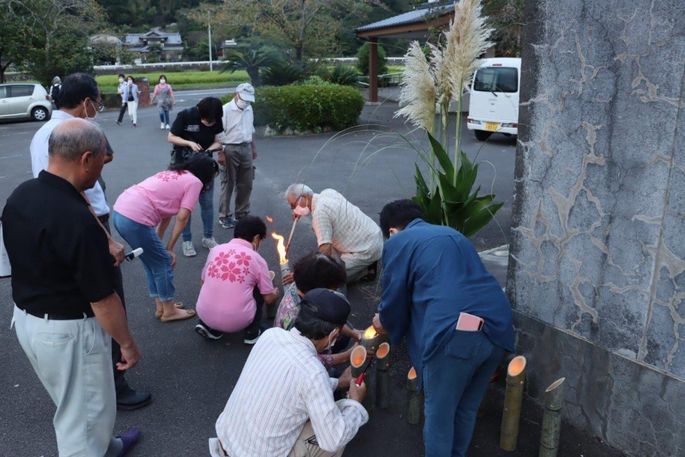
[[[212,456],[338,457],[368,421],[361,405],[366,384],[349,368],[329,377],[317,358],[336,342],[349,315],[345,296],[313,289],[302,299],[291,331],[264,332],[247,358],[238,384],[217,420]],[[349,389],[346,400],[333,391]]]

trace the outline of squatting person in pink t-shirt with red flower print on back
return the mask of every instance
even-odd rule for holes
[[[195,331],[218,340],[224,332],[245,329],[245,344],[254,344],[261,333],[261,308],[275,303],[279,289],[271,282],[266,261],[257,254],[266,238],[264,221],[241,217],[233,235],[236,238],[210,250],[202,269]]]

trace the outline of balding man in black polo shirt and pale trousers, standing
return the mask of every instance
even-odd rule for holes
[[[48,150],[47,171],[17,187],[2,214],[13,325],[57,406],[59,455],[122,456],[140,431],[112,436],[110,336],[121,346],[118,370],[134,367],[140,349],[115,292],[106,234],[81,194],[102,171],[106,140],[96,124],[66,119],[52,131]]]

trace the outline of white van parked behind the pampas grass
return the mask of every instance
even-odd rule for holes
[[[466,126],[478,140],[493,133],[519,134],[521,59],[483,59],[471,84]]]

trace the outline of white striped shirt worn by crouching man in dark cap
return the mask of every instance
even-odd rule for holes
[[[345,447],[368,413],[354,400],[333,401],[329,377],[314,344],[296,328],[264,332],[217,420],[217,436],[232,457],[287,456],[310,420],[319,447]]]

